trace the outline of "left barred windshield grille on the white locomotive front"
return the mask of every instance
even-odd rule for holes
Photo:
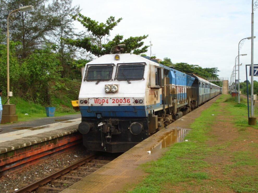
[[[114,64],[87,65],[84,81],[106,81],[112,78]]]

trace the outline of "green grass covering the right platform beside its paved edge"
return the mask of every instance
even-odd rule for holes
[[[247,172],[250,170],[245,170],[258,166],[257,153],[254,156],[252,152],[254,148],[257,149],[257,144],[247,145],[246,147],[251,148],[250,151],[236,152],[230,149],[235,145],[234,140],[213,147],[206,145],[210,140],[211,127],[218,122],[218,115],[234,117],[232,123],[237,128],[249,127],[247,118],[243,118],[247,114],[247,106],[244,103],[236,104],[233,100],[235,98],[222,95],[210,108],[204,110],[191,124],[192,130],[185,137],[188,142],[173,144],[163,157],[143,164],[140,168],[150,175],[133,190],[127,189],[123,192],[258,192],[258,170],[252,175]],[[227,103],[226,108],[225,105],[220,105],[222,102]],[[239,134],[241,136],[237,141],[242,141],[247,132],[239,130]],[[212,159],[214,155],[229,157],[228,162],[232,164],[214,162],[210,165],[213,162],[205,161]],[[209,169],[221,170],[222,179],[214,179],[207,172]]]

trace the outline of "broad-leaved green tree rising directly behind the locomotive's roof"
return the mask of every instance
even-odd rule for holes
[[[99,23],[89,17],[83,16],[82,14],[78,14],[78,16],[74,16],[73,18],[77,19],[77,21],[86,28],[89,35],[76,40],[71,38],[62,38],[66,44],[83,48],[98,57],[109,54],[111,48],[118,44],[126,45],[124,47],[125,53],[133,52],[133,54],[138,55],[147,52],[147,48],[149,46],[143,46],[144,42],[142,40],[147,38],[148,35],[129,37],[124,40],[122,40],[122,35],[116,35],[111,41],[109,41],[108,36],[110,35],[110,31],[113,30],[122,18],[115,21],[115,18],[110,16],[106,23]]]

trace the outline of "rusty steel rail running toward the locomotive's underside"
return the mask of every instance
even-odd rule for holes
[[[53,174],[50,174],[50,175],[48,175],[44,178],[39,179],[36,182],[33,182],[33,183],[31,183],[31,184],[29,184],[29,185],[27,185],[27,186],[25,186],[25,187],[23,187],[19,190],[14,191],[14,193],[31,192],[31,191],[35,190],[36,188],[41,187],[43,184],[46,184],[46,183],[50,182],[53,178],[58,178],[61,175],[63,175],[65,173],[81,166],[82,164],[88,162],[89,160],[91,160],[93,158],[96,158],[97,156],[98,156],[98,153],[91,154],[91,155],[89,155],[89,156],[87,156],[87,157],[85,157],[85,158],[83,158],[83,159],[81,159],[81,160],[63,168],[63,169],[61,169],[61,170],[58,170],[58,171],[54,172]]]

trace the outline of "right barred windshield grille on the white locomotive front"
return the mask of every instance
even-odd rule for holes
[[[144,75],[146,63],[117,64],[115,79],[119,81],[141,80]]]

